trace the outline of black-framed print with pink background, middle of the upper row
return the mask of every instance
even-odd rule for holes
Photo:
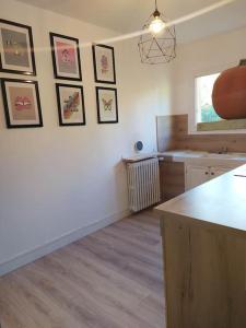
[[[55,33],[49,36],[55,78],[81,81],[79,39]]]

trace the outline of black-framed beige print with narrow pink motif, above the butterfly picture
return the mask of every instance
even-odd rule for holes
[[[95,82],[116,83],[114,48],[105,45],[93,45],[93,63]]]

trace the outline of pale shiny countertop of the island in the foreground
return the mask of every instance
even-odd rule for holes
[[[246,165],[198,186],[156,210],[199,224],[219,225],[246,237]]]

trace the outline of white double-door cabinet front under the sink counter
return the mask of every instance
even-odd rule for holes
[[[235,167],[187,164],[185,168],[185,189],[189,190],[200,186]]]

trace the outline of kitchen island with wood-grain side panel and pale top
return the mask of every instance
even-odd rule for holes
[[[156,210],[166,328],[246,327],[246,165]]]

